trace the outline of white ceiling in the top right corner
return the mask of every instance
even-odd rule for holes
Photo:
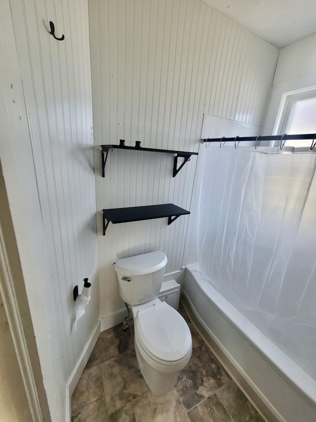
[[[202,1],[276,47],[316,33],[316,0]]]

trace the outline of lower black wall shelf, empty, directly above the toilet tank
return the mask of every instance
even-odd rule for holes
[[[173,204],[147,205],[143,207],[112,208],[103,210],[103,235],[110,223],[128,223],[131,221],[152,220],[154,218],[168,217],[168,225],[180,215],[190,214],[183,208]]]

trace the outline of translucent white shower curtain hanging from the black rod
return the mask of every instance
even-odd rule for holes
[[[203,151],[200,271],[316,379],[316,154],[262,150]]]

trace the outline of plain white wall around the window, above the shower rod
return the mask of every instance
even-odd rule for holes
[[[280,49],[264,135],[276,130],[282,94],[316,88],[316,34]]]

